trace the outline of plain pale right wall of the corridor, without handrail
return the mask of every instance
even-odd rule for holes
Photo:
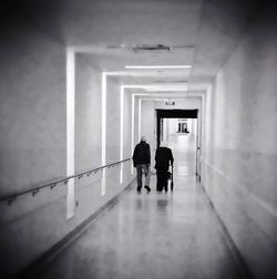
[[[276,278],[277,24],[265,10],[207,91],[202,182],[247,267]]]

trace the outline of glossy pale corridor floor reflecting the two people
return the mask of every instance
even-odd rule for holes
[[[177,167],[186,152],[182,145]],[[183,170],[173,193],[156,193],[154,176],[150,194],[134,184],[37,278],[240,278],[201,185]]]

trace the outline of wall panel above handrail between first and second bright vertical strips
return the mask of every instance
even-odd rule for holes
[[[75,170],[101,166],[101,73],[76,54]],[[109,103],[110,104],[110,103]]]

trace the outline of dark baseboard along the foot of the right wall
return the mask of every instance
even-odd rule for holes
[[[207,199],[207,203],[209,205],[209,208],[211,210],[213,211],[213,214],[215,215],[216,219],[218,220],[219,225],[220,225],[220,228],[222,228],[222,231],[223,231],[223,235],[224,235],[224,240],[226,242],[226,245],[228,246],[238,268],[239,268],[239,272],[240,272],[240,276],[239,278],[244,278],[244,279],[255,279],[255,276],[253,275],[253,272],[250,271],[247,262],[245,261],[242,252],[239,251],[239,249],[237,248],[235,241],[233,240],[232,236],[229,235],[229,231],[227,229],[227,227],[225,226],[222,217],[219,216],[219,214],[216,211],[216,208],[214,206],[214,203],[213,200],[211,199],[211,197],[208,196],[204,185],[202,183],[199,183],[204,194],[205,194],[205,197]]]

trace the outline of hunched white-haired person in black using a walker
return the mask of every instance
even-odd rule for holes
[[[168,179],[168,167],[170,164],[173,166],[173,154],[172,149],[166,146],[166,143],[163,142],[156,149],[155,155],[155,169],[156,169],[156,190],[162,192],[165,189],[167,192],[167,179]]]

